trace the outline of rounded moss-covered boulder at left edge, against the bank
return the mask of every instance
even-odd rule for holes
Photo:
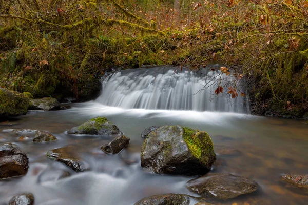
[[[25,95],[0,88],[0,118],[27,114],[29,98]]]

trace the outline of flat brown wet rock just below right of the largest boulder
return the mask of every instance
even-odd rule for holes
[[[258,184],[252,179],[233,174],[211,173],[187,182],[189,191],[201,197],[231,199],[257,190]]]

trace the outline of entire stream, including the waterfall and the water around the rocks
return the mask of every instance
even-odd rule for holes
[[[209,200],[213,204],[307,204],[307,191],[287,185],[280,176],[307,174],[308,125],[297,120],[249,115],[244,97],[234,100],[228,95],[213,95],[217,85],[198,92],[206,78],[219,74],[217,71],[205,71],[206,77],[198,78],[202,73],[166,69],[162,74],[161,68],[154,70],[115,73],[104,79],[102,94],[95,101],[70,104],[71,109],[62,111],[30,111],[16,117],[14,125],[0,124],[1,144],[11,142],[29,157],[27,175],[0,181],[0,204],[8,204],[14,194],[23,192],[33,193],[35,204],[45,205],[134,204],[143,197],[163,193],[197,196],[185,187],[188,180],[196,177],[157,175],[142,170],[140,149],[144,138],[140,133],[152,125],[204,130],[215,146],[240,151],[236,156],[218,155],[220,165],[212,172],[252,178],[258,182],[259,190],[233,200]],[[130,138],[126,150],[107,155],[100,147],[110,138],[66,133],[96,116],[107,117]],[[18,128],[45,130],[58,140],[35,144],[33,134],[27,134],[31,140],[18,141],[25,134],[7,131]],[[48,150],[67,145],[78,148],[91,171],[75,173],[46,156]],[[59,179],[61,170],[71,176]]]

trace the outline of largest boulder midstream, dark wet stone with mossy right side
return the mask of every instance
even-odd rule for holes
[[[141,148],[141,166],[158,174],[202,175],[215,160],[208,134],[182,126],[150,132]]]

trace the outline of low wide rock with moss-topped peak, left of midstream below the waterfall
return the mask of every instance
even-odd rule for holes
[[[123,134],[117,126],[108,121],[106,117],[95,117],[84,124],[70,129],[68,134],[86,134],[86,135],[120,135]]]

